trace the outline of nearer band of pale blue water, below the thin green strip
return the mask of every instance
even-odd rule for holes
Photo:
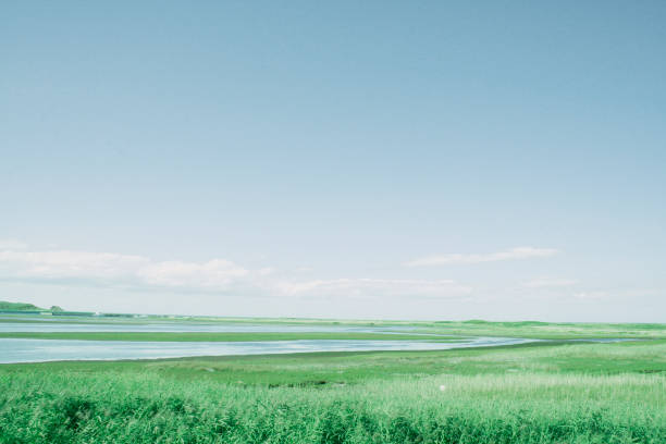
[[[267,342],[126,342],[0,338],[0,363],[53,360],[181,358],[188,356],[261,355],[307,351],[441,350],[532,342],[477,337],[465,343],[419,341],[267,341]]]

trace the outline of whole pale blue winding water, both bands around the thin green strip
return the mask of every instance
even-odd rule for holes
[[[53,360],[114,360],[156,359],[190,356],[263,355],[308,351],[369,351],[369,350],[442,350],[459,347],[511,345],[534,340],[510,337],[459,337],[442,335],[443,342],[420,341],[412,326],[372,325],[291,325],[281,323],[223,322],[76,322],[42,318],[2,319],[0,333],[9,332],[220,332],[220,333],[281,333],[340,332],[412,334],[414,340],[294,340],[247,342],[137,342],[0,338],[0,363],[41,362]],[[430,336],[432,337],[432,336]],[[447,340],[451,340],[447,342]]]

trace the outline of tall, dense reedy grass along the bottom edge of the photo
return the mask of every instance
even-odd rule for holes
[[[38,442],[661,444],[666,378],[449,374],[271,388],[159,373],[0,373],[0,443]]]

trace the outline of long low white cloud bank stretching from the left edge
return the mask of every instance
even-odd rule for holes
[[[248,270],[225,259],[156,261],[144,256],[76,250],[0,250],[0,280],[298,298],[459,298],[472,291],[451,280],[289,280],[276,275],[273,268]]]

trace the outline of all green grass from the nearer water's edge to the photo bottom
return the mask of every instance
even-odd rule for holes
[[[0,366],[0,443],[656,444],[665,375],[664,341]]]

